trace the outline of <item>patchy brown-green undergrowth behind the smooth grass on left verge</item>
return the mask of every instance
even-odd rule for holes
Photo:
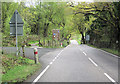
[[[23,64],[33,64],[30,59],[23,58],[21,56],[16,57],[12,54],[2,56],[2,66],[4,68],[3,73],[7,73],[10,69],[15,66],[21,66]]]

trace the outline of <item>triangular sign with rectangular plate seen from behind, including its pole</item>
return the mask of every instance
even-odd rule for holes
[[[18,55],[17,36],[23,35],[23,24],[24,24],[17,10],[14,12],[9,24],[10,24],[10,35],[16,36],[16,56],[17,56]]]

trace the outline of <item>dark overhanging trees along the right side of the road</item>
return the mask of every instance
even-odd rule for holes
[[[90,35],[91,44],[119,49],[120,2],[78,3],[78,5],[71,4],[70,7],[73,8],[74,15],[83,14],[85,16],[87,22],[84,26],[88,23],[87,34]],[[82,29],[80,30],[82,31]]]

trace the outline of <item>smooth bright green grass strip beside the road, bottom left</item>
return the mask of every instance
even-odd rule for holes
[[[19,65],[2,75],[2,82],[22,82],[38,69],[38,65]]]

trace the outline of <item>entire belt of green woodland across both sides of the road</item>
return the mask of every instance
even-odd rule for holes
[[[19,44],[31,40],[52,40],[52,29],[60,29],[60,42],[70,40],[74,34],[90,35],[89,43],[97,47],[120,48],[120,2],[39,2],[26,6],[25,2],[2,3],[3,46],[15,45],[10,36],[9,21],[18,10],[24,21],[24,35]],[[5,44],[7,43],[7,44]]]

